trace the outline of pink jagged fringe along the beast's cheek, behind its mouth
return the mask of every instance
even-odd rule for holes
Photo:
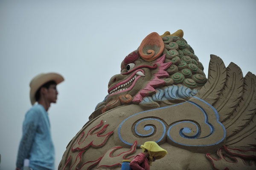
[[[141,89],[137,95],[134,96],[134,103],[140,103],[144,97],[150,95],[151,92],[155,92],[155,88],[165,85],[165,81],[160,78],[169,77],[168,72],[165,70],[172,65],[172,62],[163,63],[165,56],[166,55],[163,55],[162,57],[158,58],[154,63],[158,65],[159,70],[157,73],[154,73],[154,78],[149,81],[148,84],[146,84],[145,88]]]

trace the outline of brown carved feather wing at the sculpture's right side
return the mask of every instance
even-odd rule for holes
[[[225,145],[241,149],[256,147],[256,76],[243,78],[235,63],[224,66],[221,58],[211,55],[208,81],[198,92],[199,98],[212,104],[226,128]]]

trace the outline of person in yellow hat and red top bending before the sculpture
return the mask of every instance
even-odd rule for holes
[[[163,158],[167,154],[167,151],[154,141],[147,141],[140,148],[142,148],[143,153],[136,155],[130,162],[132,170],[150,170],[152,162]]]

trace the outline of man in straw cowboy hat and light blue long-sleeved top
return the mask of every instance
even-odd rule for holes
[[[56,103],[56,85],[64,81],[57,73],[39,74],[30,82],[30,101],[32,108],[26,112],[23,134],[17,155],[16,169],[23,167],[24,159],[29,159],[33,170],[54,169],[54,147],[50,133],[48,109]],[[38,104],[35,104],[38,102]]]

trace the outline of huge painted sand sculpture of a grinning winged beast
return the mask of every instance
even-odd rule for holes
[[[59,170],[121,170],[155,141],[151,170],[255,170],[256,77],[210,55],[208,79],[183,31],[151,33],[121,63]]]

